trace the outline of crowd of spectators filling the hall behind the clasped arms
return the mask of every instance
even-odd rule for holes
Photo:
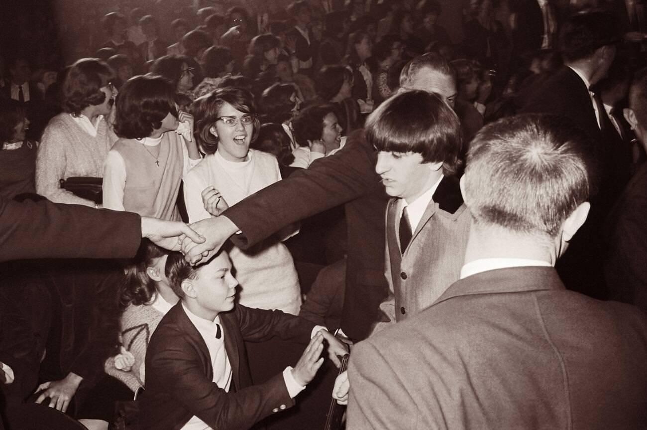
[[[560,26],[591,5],[562,3],[466,2],[460,43],[440,25],[448,6],[435,0],[8,5],[12,23],[0,33],[0,194],[185,222],[218,216],[343,150],[397,93],[407,63],[429,52],[452,67],[450,99],[467,143],[484,124],[514,115],[536,82],[564,66]],[[591,87],[618,142],[611,158],[619,173],[603,190],[601,219],[645,159],[622,109],[645,64],[647,23],[642,2],[631,16],[613,1],[599,3],[623,34],[608,73]],[[100,198],[61,185],[74,177],[102,178]],[[289,227],[253,249],[229,251],[243,286],[239,303],[334,330],[344,297],[344,208]],[[3,264],[0,351],[23,354],[3,377],[21,375],[3,385],[5,403],[43,401],[41,393],[57,387],[47,393],[58,399],[52,407],[90,428],[114,422],[115,403],[144,386],[148,331],[179,300],[164,275],[167,258],[148,245],[130,262]],[[318,275],[337,288],[318,290]],[[591,295],[608,299],[609,291],[600,286]],[[254,382],[290,354],[300,351],[248,345]],[[327,407],[325,387],[309,394],[300,416],[266,424],[305,428],[319,419],[305,409]]]

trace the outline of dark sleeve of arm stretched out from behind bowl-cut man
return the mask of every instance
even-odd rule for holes
[[[232,240],[246,249],[295,221],[356,199],[378,181],[375,155],[359,130],[340,152],[263,188],[226,210],[241,229]],[[375,183],[372,183],[375,181]]]

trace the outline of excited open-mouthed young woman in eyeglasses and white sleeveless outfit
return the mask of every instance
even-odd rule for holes
[[[192,113],[195,136],[207,155],[184,178],[190,222],[218,216],[228,205],[280,181],[276,157],[249,148],[260,128],[252,93],[220,88],[195,100]],[[299,313],[299,282],[292,256],[280,241],[283,238],[287,234],[277,234],[247,250],[234,247],[230,251],[241,286],[240,304]]]

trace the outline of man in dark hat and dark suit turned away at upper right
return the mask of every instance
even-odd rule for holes
[[[560,31],[559,49],[564,66],[554,74],[536,79],[517,100],[521,113],[552,113],[572,120],[590,139],[589,156],[597,159],[594,175],[598,192],[592,192],[593,205],[587,223],[580,229],[570,251],[560,260],[557,270],[569,289],[591,297],[608,295],[602,275],[602,220],[609,210],[605,187],[609,181],[608,142],[601,131],[604,107],[591,93],[591,85],[602,79],[615,58],[617,32],[606,12],[578,14]],[[585,277],[584,279],[582,277]],[[584,282],[581,282],[584,280]]]

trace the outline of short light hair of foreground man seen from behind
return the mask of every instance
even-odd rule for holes
[[[478,224],[553,238],[591,191],[590,142],[569,120],[526,114],[470,142],[464,198]]]

